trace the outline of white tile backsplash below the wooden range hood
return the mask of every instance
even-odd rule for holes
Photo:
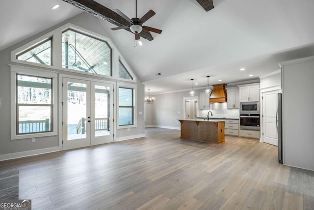
[[[211,118],[239,118],[239,110],[238,109],[227,109],[227,102],[226,103],[211,103],[211,109],[201,109],[199,110],[198,117],[206,118],[207,113],[209,111],[212,112]]]

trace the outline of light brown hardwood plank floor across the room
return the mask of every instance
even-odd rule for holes
[[[313,210],[314,172],[283,166],[277,147],[223,144],[147,128],[146,138],[0,162],[18,169],[35,210]]]

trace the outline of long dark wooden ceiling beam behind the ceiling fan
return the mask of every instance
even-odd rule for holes
[[[109,23],[112,23],[118,27],[127,26],[130,24],[127,20],[125,20],[123,17],[121,17],[114,11],[112,11],[111,9],[103,6],[102,4],[94,0],[63,0],[63,1],[70,3],[73,6],[76,6],[79,9],[84,10],[87,13],[92,14],[105,21],[108,21]],[[128,30],[131,32],[129,28],[125,30]],[[143,30],[139,35],[149,41],[152,41],[154,39],[152,34],[146,30]]]

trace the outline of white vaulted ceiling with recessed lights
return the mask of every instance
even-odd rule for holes
[[[135,0],[96,0],[135,17]],[[59,3],[60,7],[51,10]],[[279,69],[278,62],[314,55],[313,0],[213,0],[208,12],[197,0],[138,0],[137,14],[152,9],[145,25],[161,29],[154,40],[112,31],[104,34],[151,93],[259,78]],[[1,0],[0,50],[82,13],[62,0]],[[239,69],[244,67],[245,71]],[[157,76],[160,73],[160,76]],[[248,75],[252,74],[252,77]],[[222,81],[218,81],[221,79]]]

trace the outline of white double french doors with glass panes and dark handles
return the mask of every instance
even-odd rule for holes
[[[63,150],[113,141],[113,85],[63,78]]]

